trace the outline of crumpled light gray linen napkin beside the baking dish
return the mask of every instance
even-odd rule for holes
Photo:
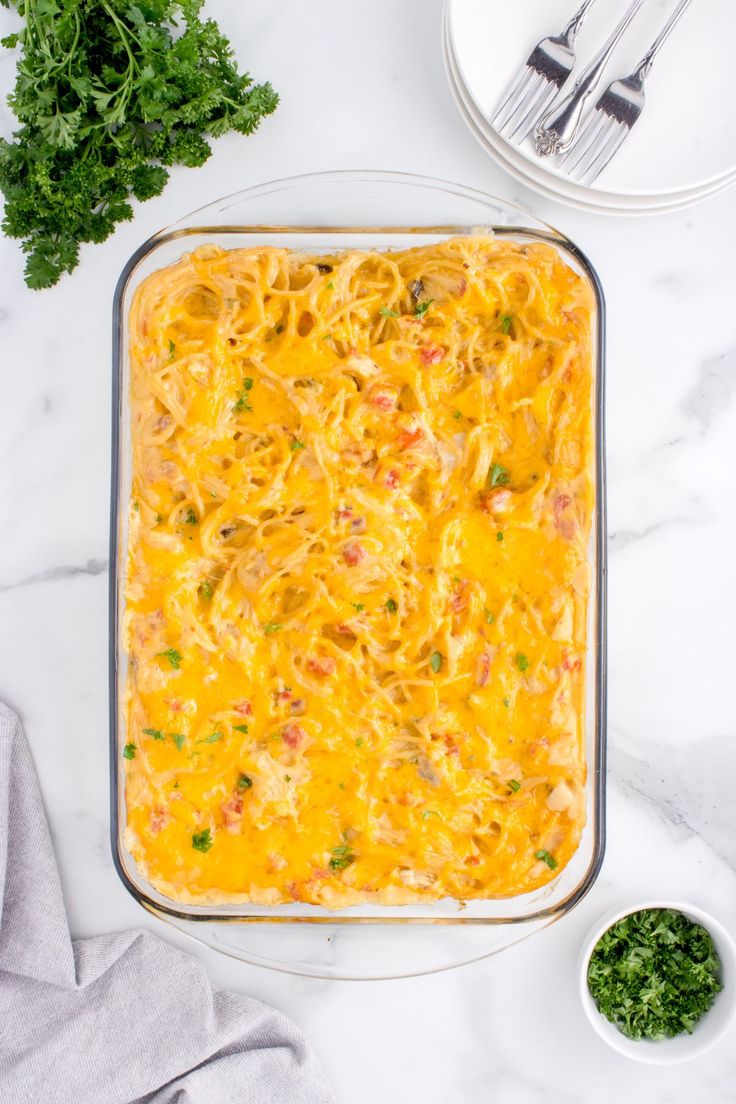
[[[0,703],[2,1104],[334,1104],[303,1037],[148,932],[70,937],[39,783]]]

